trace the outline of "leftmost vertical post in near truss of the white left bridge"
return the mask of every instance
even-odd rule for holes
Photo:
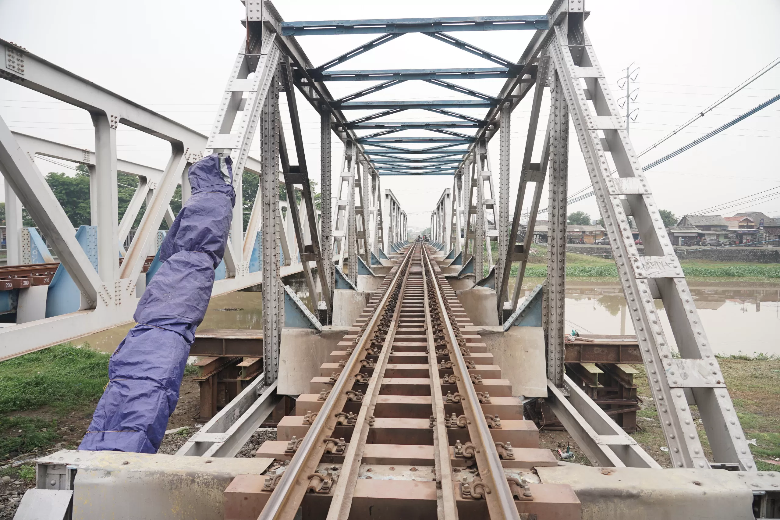
[[[110,118],[110,119],[109,119]],[[119,116],[93,114],[95,129],[95,187],[97,188],[97,276],[114,296],[119,269],[117,223],[116,127]]]

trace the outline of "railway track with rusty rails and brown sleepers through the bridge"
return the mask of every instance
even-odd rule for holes
[[[403,251],[258,457],[263,520],[580,518],[431,250]]]

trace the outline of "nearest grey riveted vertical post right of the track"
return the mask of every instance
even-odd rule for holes
[[[555,73],[551,95],[551,157],[548,187],[548,262],[544,281],[543,321],[547,333],[547,377],[563,385],[563,337],[566,333],[566,194],[569,179],[569,108]]]

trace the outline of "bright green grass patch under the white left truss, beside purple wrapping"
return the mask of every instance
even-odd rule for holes
[[[60,344],[0,363],[0,413],[62,410],[103,395],[109,354]]]

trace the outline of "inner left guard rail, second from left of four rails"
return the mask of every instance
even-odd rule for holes
[[[412,248],[410,248],[409,268],[411,268],[414,259],[413,257],[418,254],[418,251],[416,251],[417,248],[416,244],[413,244]],[[395,333],[398,330],[404,290],[406,290],[406,283],[409,281],[410,272],[411,269],[406,269],[406,272],[404,272],[401,290],[399,291],[399,297],[395,304],[392,321],[390,322],[388,333],[385,337],[385,343],[382,344],[379,358],[376,365],[374,365],[374,374],[372,374],[371,381],[368,383],[366,393],[363,397],[363,404],[360,405],[360,411],[357,415],[352,438],[349,440],[349,447],[347,447],[346,452],[344,453],[344,463],[342,464],[341,472],[339,472],[339,480],[336,482],[335,489],[333,490],[333,498],[331,500],[330,508],[328,509],[327,520],[339,520],[339,518],[349,517],[349,510],[352,508],[352,499],[355,493],[355,485],[360,473],[360,464],[363,460],[363,451],[365,450],[366,441],[368,439],[368,429],[370,428],[368,418],[374,415],[374,407],[377,404],[377,398],[381,391],[381,381],[385,378],[385,369],[387,368],[388,360],[390,359]]]

